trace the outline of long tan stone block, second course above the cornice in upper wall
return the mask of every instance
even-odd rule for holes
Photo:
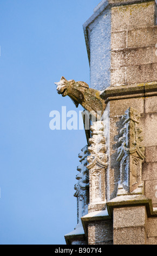
[[[152,47],[127,48],[111,53],[111,68],[152,63]]]

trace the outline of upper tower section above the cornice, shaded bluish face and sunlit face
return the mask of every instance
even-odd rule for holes
[[[156,80],[155,8],[154,1],[126,0],[97,7],[84,25],[91,88]]]

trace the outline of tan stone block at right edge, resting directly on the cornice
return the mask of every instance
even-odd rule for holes
[[[126,83],[135,84],[143,82],[156,81],[157,64],[146,64],[137,66],[128,66],[126,69]]]

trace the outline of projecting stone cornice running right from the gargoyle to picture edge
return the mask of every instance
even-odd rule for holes
[[[110,100],[129,99],[134,97],[148,97],[157,95],[157,82],[124,84],[109,86],[101,93],[101,98],[107,103]]]

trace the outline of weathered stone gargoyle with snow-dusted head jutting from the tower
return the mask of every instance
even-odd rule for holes
[[[55,84],[58,94],[62,94],[63,97],[68,95],[76,107],[80,104],[96,119],[101,118],[106,104],[101,99],[99,90],[89,88],[88,84],[82,81],[66,80],[63,76],[60,82]]]

